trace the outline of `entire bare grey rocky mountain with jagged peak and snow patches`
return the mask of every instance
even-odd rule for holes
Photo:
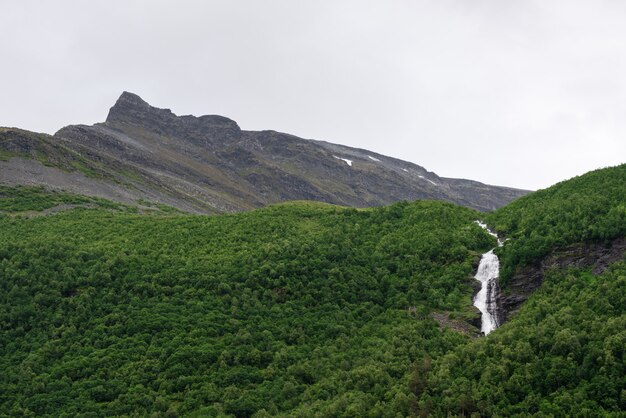
[[[439,177],[363,149],[244,131],[222,116],[176,116],[128,92],[104,123],[54,136],[0,128],[0,182],[191,213],[288,200],[369,207],[416,199],[490,211],[528,193]]]

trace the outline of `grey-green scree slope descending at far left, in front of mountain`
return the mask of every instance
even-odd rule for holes
[[[43,186],[139,207],[166,204],[185,212],[218,212],[113,156],[72,145],[46,134],[0,128],[0,184]]]

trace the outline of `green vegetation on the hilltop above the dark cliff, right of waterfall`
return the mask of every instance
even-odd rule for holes
[[[498,253],[501,284],[506,285],[518,266],[556,248],[626,235],[626,164],[524,196],[488,221],[509,239]]]

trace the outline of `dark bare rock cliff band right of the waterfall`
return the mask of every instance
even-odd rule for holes
[[[557,250],[541,261],[519,268],[508,281],[506,289],[499,292],[502,320],[510,319],[541,286],[547,271],[591,267],[594,274],[601,274],[612,263],[622,260],[625,252],[626,238],[621,237],[610,243],[577,244]]]

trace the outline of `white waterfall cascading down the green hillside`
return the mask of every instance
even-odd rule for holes
[[[480,221],[476,221],[478,225],[484,228],[490,235],[496,237],[498,246],[502,246],[502,241],[496,234],[487,228],[487,225]],[[474,278],[481,283],[480,291],[474,298],[474,306],[478,308],[481,317],[480,330],[485,334],[489,334],[500,326],[500,314],[496,299],[498,297],[498,276],[500,271],[500,260],[494,254],[493,250],[483,254],[478,265],[478,271]]]

